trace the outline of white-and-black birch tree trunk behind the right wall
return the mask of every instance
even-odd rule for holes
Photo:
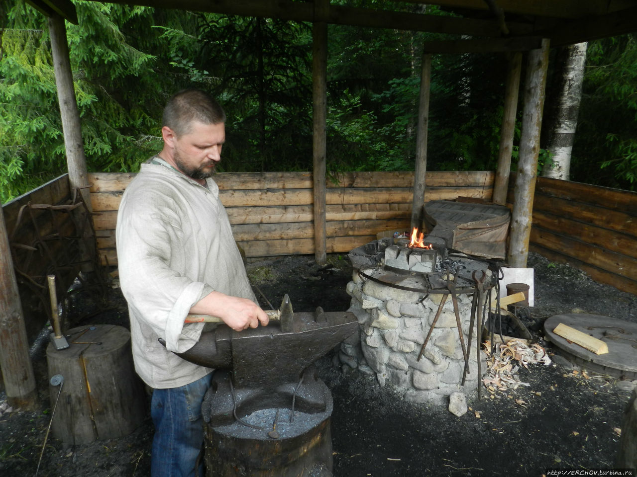
[[[577,116],[582,100],[582,80],[588,43],[565,46],[558,57],[561,62],[556,78],[557,90],[552,106],[552,123],[547,128],[547,149],[552,161],[545,163],[542,176],[568,181],[571,167],[571,151],[575,139]]]

